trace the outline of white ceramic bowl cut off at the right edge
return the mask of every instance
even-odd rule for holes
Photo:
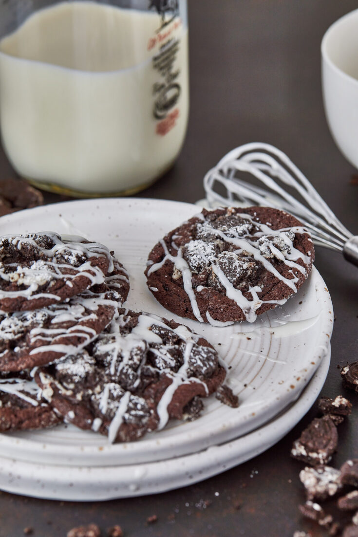
[[[323,98],[333,139],[358,168],[358,9],[337,20],[321,43]]]

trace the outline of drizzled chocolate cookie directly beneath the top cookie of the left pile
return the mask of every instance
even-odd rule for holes
[[[33,311],[0,313],[0,371],[20,371],[73,354],[94,340],[111,322],[129,291],[124,267],[103,284],[60,304]]]

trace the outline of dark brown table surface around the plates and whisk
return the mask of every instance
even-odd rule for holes
[[[191,108],[187,139],[174,168],[141,197],[194,202],[202,178],[228,150],[262,141],[287,153],[328,205],[358,234],[358,172],[328,131],[320,86],[320,40],[356,0],[189,0]],[[11,172],[3,153],[0,173]],[[59,201],[46,194],[46,201]],[[337,366],[358,357],[358,270],[338,253],[317,248],[316,267],[330,289],[336,316],[332,361],[322,394],[343,393],[354,404],[340,426],[332,464],[358,456],[357,395],[342,389]],[[0,536],[64,537],[76,525],[120,524],[125,537],[292,537],[297,529],[326,535],[304,520],[292,441],[317,414],[304,419],[266,453],[202,483],[160,495],[103,503],[68,503],[0,494]],[[1,488],[1,483],[0,483]],[[200,509],[201,500],[211,500]],[[240,509],[236,509],[240,503]],[[147,517],[157,522],[146,525]],[[173,515],[175,518],[173,519]],[[349,517],[348,517],[349,518]]]

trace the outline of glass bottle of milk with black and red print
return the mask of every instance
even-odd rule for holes
[[[0,124],[45,190],[132,194],[174,163],[189,109],[187,0],[0,0]]]

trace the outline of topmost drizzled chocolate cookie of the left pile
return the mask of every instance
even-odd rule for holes
[[[0,238],[0,310],[27,311],[102,284],[113,271],[109,250],[56,233]]]

